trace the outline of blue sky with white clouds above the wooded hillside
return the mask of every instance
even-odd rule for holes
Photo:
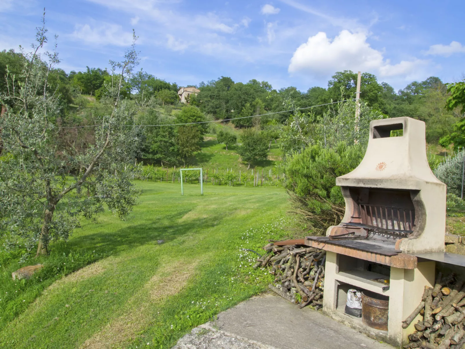
[[[109,67],[135,29],[140,67],[179,86],[223,75],[306,91],[351,69],[399,89],[465,73],[459,0],[0,0],[0,49],[29,47],[44,7],[66,72]]]

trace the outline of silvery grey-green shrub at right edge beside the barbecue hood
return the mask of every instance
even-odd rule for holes
[[[462,191],[464,156],[465,150],[460,150],[454,157],[447,157],[434,170],[438,180],[447,186],[447,192],[457,196],[460,196]]]

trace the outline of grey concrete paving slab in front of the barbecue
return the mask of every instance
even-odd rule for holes
[[[252,297],[220,313],[215,323],[210,322],[203,326],[219,329],[220,332],[233,338],[245,339],[246,342],[240,345],[249,345],[250,342],[247,341],[252,341],[254,345],[262,346],[250,347],[251,349],[267,348],[266,346],[279,349],[393,348],[336,322],[321,312],[310,308],[297,309],[295,305],[281,297],[270,294]],[[207,338],[203,342],[199,342],[199,339],[197,342],[193,341],[192,339],[199,336],[188,334],[180,339],[174,348],[249,348],[240,346],[239,342],[235,343],[236,347],[222,346],[219,342],[213,344],[213,339],[208,339],[208,336],[212,336],[214,332],[208,333],[204,335]],[[207,342],[212,343],[213,346],[208,346]]]

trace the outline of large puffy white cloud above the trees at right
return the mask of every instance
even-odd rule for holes
[[[326,76],[335,71],[352,70],[378,74],[380,77],[415,74],[428,61],[403,60],[392,65],[383,53],[370,47],[365,33],[351,33],[342,30],[333,40],[326,33],[308,38],[294,52],[289,73],[307,72],[313,76]]]

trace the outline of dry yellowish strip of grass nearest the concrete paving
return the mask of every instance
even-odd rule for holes
[[[181,291],[198,263],[199,260],[174,261],[159,269],[144,288],[129,301],[127,308],[131,310],[95,333],[80,348],[124,348],[123,343],[133,339],[150,324],[150,305]]]

